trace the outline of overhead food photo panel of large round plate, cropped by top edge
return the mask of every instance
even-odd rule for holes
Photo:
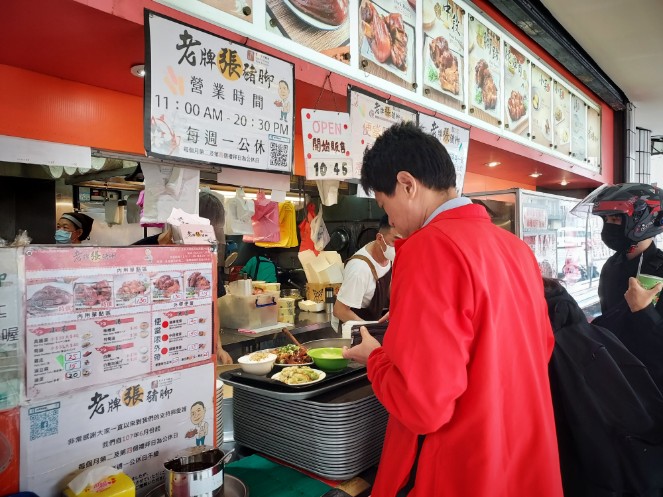
[[[266,0],[265,29],[346,64],[350,63],[350,3]]]

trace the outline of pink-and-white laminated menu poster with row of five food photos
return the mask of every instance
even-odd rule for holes
[[[190,245],[26,249],[27,398],[209,361],[214,256]]]

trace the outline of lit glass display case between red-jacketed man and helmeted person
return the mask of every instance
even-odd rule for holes
[[[599,275],[613,252],[601,241],[599,216],[571,214],[579,199],[520,188],[467,197],[486,207],[493,224],[531,247],[543,276],[563,281],[586,313],[600,312]]]

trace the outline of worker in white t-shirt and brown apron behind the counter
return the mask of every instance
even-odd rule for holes
[[[343,284],[334,303],[334,317],[341,322],[377,321],[389,303],[394,242],[400,235],[385,215],[375,240],[360,248],[345,263]],[[335,320],[332,327],[336,328]]]

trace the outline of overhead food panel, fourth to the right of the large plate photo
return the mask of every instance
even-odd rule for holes
[[[504,127],[520,136],[529,133],[529,68],[525,56],[504,43]]]

